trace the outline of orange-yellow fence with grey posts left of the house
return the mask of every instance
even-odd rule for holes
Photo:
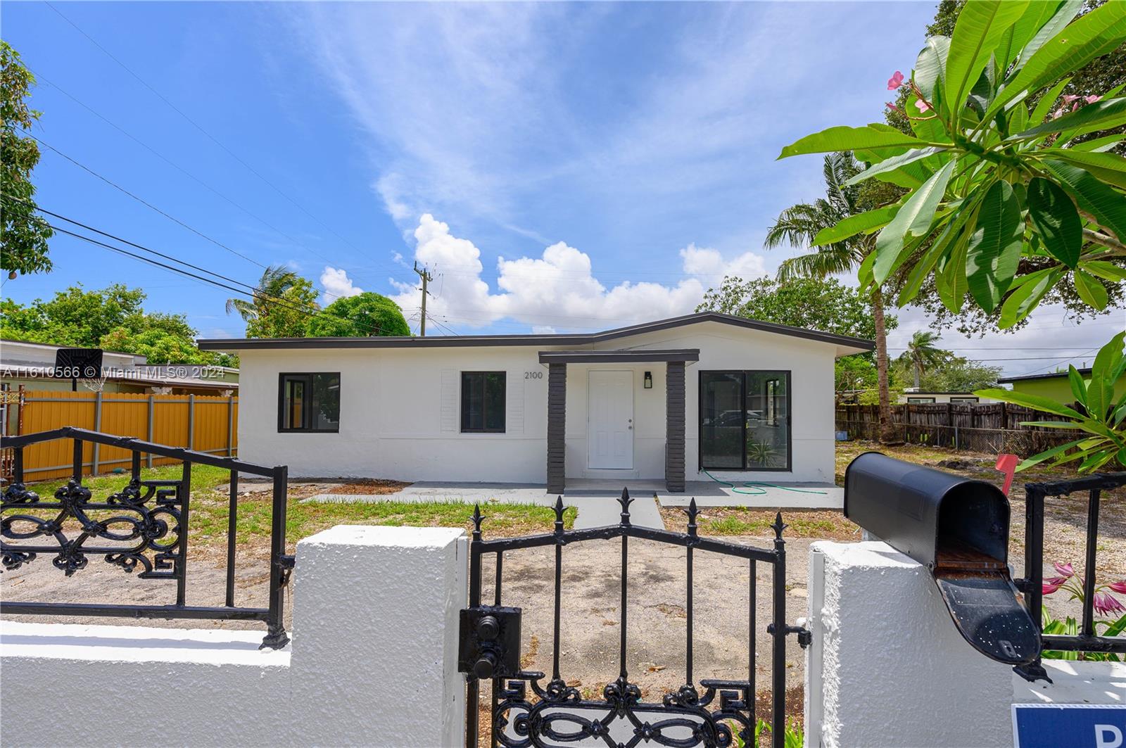
[[[239,399],[195,394],[132,394],[123,392],[53,392],[20,390],[5,393],[5,433],[47,431],[63,426],[132,436],[172,447],[233,457],[238,452]],[[11,455],[0,457],[0,473],[11,478]],[[63,439],[28,446],[24,474],[28,481],[66,478],[73,455]],[[100,444],[84,445],[82,468],[96,475],[128,468],[129,452]],[[145,464],[167,465],[173,457],[145,455]]]

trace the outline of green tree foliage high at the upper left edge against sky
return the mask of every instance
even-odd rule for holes
[[[35,78],[20,62],[19,53],[0,41],[0,188],[3,189],[0,220],[0,268],[9,274],[51,270],[47,240],[54,233],[35,212],[32,170],[39,162],[35,140],[21,136],[39,113],[27,105]],[[15,277],[14,275],[10,277]]]

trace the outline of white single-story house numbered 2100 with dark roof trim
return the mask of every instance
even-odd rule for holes
[[[857,338],[699,313],[574,335],[200,340],[238,353],[239,454],[292,475],[547,483],[834,475]]]

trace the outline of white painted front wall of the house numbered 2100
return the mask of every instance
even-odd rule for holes
[[[716,472],[741,480],[833,480],[834,346],[703,322],[600,344],[597,349],[698,348],[686,373],[685,465],[699,466],[699,372],[790,372],[793,471]],[[409,481],[544,483],[547,462],[545,346],[277,349],[240,351],[239,455],[287,464],[297,477],[367,477]],[[634,372],[634,468],[587,469],[587,381],[592,368]],[[461,433],[461,373],[507,372],[504,434]],[[279,434],[278,374],[340,372],[340,431]],[[652,372],[653,388],[642,386]],[[665,365],[568,366],[568,478],[664,477]],[[529,375],[526,379],[526,374]],[[539,379],[535,379],[540,375]]]

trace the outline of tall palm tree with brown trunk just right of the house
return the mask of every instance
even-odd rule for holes
[[[822,229],[837,225],[850,215],[877,207],[861,194],[859,185],[844,182],[864,170],[849,152],[831,153],[824,160],[825,196],[813,203],[798,203],[783,211],[767,231],[767,249],[786,243],[807,248]],[[870,180],[869,180],[870,181]],[[778,279],[815,277],[851,273],[876,248],[876,234],[859,233],[841,241],[814,248],[814,251],[785,260],[778,267]],[[876,327],[876,373],[879,389],[879,438],[890,440],[892,407],[887,393],[887,331],[884,326],[884,296],[872,290],[872,317]]]

